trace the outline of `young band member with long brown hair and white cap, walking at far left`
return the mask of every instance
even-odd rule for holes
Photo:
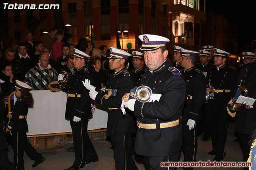
[[[15,96],[17,98],[12,114],[10,115],[10,121],[8,122],[8,128],[12,130],[12,147],[14,152],[14,165],[17,170],[24,170],[24,151],[28,157],[34,160],[32,167],[38,166],[44,162],[45,158],[28,143],[27,134],[28,123],[26,120],[28,114],[28,108],[33,108],[34,100],[32,94],[29,92],[32,87],[28,84],[16,80]]]

